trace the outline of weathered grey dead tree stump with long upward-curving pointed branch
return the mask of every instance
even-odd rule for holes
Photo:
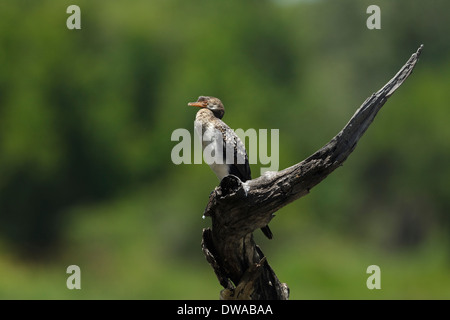
[[[267,225],[275,211],[308,194],[343,164],[387,99],[411,74],[422,47],[313,155],[287,169],[266,172],[245,183],[229,175],[211,193],[204,215],[211,217],[212,227],[203,230],[202,249],[225,288],[222,299],[289,298],[287,285],[278,280],[267,263],[253,240],[253,231]]]

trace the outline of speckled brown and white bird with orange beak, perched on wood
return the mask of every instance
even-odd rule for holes
[[[237,134],[222,121],[225,107],[220,99],[210,96],[200,96],[196,102],[189,102],[188,106],[198,107],[194,126],[201,129],[202,148],[210,148],[211,155],[219,161],[205,161],[217,178],[221,181],[232,174],[242,182],[252,179],[245,145]],[[221,156],[221,157],[220,157]],[[220,159],[222,158],[222,159]],[[273,234],[269,226],[261,228],[264,235],[272,239]]]

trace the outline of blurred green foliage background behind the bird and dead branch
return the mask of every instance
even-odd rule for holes
[[[81,30],[66,9],[81,8]],[[381,8],[381,30],[366,9]],[[291,299],[450,298],[450,2],[0,0],[0,298],[217,299],[200,250],[218,181],[174,165],[199,95],[328,142],[424,44],[345,165],[257,241]],[[252,165],[253,176],[260,165]],[[81,268],[68,290],[66,268]],[[366,268],[381,268],[368,290]]]

